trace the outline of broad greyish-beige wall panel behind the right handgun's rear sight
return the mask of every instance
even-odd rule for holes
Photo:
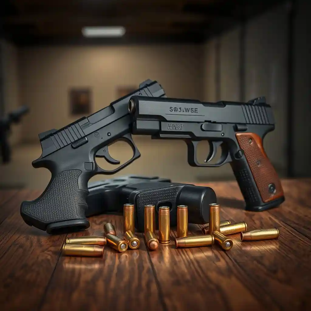
[[[287,165],[287,10],[284,4],[247,24],[245,100],[266,96],[275,130],[264,148],[277,169]]]

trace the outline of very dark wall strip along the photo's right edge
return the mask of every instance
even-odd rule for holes
[[[297,1],[294,23],[294,173],[311,176],[311,1]]]

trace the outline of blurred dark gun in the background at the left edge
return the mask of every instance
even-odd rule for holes
[[[29,108],[27,106],[21,106],[4,118],[0,118],[0,155],[2,156],[2,163],[8,163],[11,160],[11,148],[7,137],[11,124],[19,123],[21,117],[28,111]]]

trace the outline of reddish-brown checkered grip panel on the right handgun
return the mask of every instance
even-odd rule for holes
[[[262,202],[270,202],[284,195],[281,181],[262,146],[262,139],[254,133],[237,133]]]

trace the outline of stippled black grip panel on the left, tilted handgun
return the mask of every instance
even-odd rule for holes
[[[81,173],[79,169],[59,173],[40,198],[22,203],[22,212],[45,223],[86,219],[88,191],[78,188]]]

